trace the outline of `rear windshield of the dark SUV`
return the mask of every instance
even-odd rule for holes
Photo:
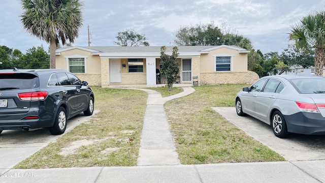
[[[1,73],[0,90],[29,89],[40,86],[39,78],[28,73]]]

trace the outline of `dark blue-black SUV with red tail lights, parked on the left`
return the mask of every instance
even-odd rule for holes
[[[0,70],[0,133],[38,128],[64,133],[69,118],[93,113],[87,84],[66,70]]]

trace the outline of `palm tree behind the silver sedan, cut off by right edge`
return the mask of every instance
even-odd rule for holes
[[[300,20],[300,24],[291,26],[289,40],[296,42],[298,49],[315,49],[315,74],[322,76],[325,56],[325,12],[309,14]]]

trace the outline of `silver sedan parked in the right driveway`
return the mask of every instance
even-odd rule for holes
[[[238,115],[263,121],[279,138],[325,134],[325,77],[266,76],[237,93],[235,105]]]

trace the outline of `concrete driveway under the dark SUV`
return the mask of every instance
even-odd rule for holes
[[[97,112],[99,111],[95,110],[91,116]],[[69,119],[66,132],[62,135],[88,121],[91,116],[80,113]],[[4,130],[0,134],[0,173],[14,167],[62,135],[51,135],[48,129],[35,131]]]

